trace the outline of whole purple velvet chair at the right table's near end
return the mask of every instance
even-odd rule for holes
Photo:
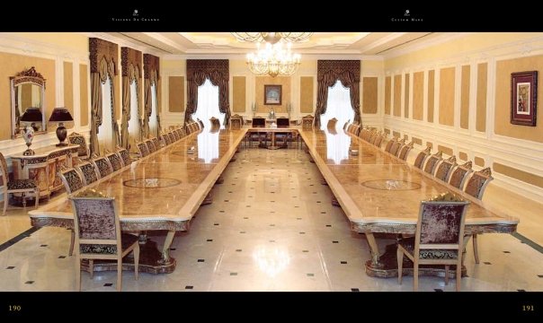
[[[402,284],[405,255],[413,261],[414,291],[418,290],[421,265],[444,265],[445,284],[449,284],[449,266],[456,266],[456,287],[457,292],[460,291],[464,224],[469,202],[458,198],[451,199],[453,201],[421,202],[414,237],[398,240],[396,256],[399,284]]]

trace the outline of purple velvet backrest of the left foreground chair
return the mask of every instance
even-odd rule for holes
[[[121,252],[120,221],[114,197],[70,196],[74,210],[76,247],[80,254]]]

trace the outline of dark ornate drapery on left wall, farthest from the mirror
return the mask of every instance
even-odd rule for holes
[[[159,80],[160,80],[160,60],[158,57],[151,54],[143,55],[143,74],[145,78],[145,112],[143,118],[143,126],[145,129],[146,136],[149,135],[149,117],[151,117],[153,109],[153,96],[151,93],[151,85],[155,84],[156,91],[156,122],[158,124],[157,134],[150,134],[151,136],[155,135],[158,137],[162,131],[160,126],[160,100],[158,99],[159,93]]]

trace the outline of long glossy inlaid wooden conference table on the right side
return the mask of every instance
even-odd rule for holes
[[[396,244],[387,246],[380,255],[376,233],[414,234],[421,201],[447,191],[471,202],[467,208],[465,242],[473,233],[516,231],[517,218],[490,211],[482,201],[359,137],[343,130],[299,133],[349,218],[352,231],[364,233],[368,239],[371,259],[366,262],[367,275],[397,276]],[[351,150],[358,150],[358,154],[352,155]],[[404,275],[412,275],[413,268],[405,265]],[[443,271],[432,266],[421,268],[420,274],[443,275]],[[450,275],[453,274],[451,271]]]

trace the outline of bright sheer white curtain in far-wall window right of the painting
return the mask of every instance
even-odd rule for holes
[[[348,120],[354,120],[354,111],[351,106],[351,92],[343,86],[340,80],[334,86],[328,88],[328,100],[326,101],[326,113],[321,115],[321,129],[326,129],[326,124],[331,118],[336,118],[336,127],[343,127]]]

